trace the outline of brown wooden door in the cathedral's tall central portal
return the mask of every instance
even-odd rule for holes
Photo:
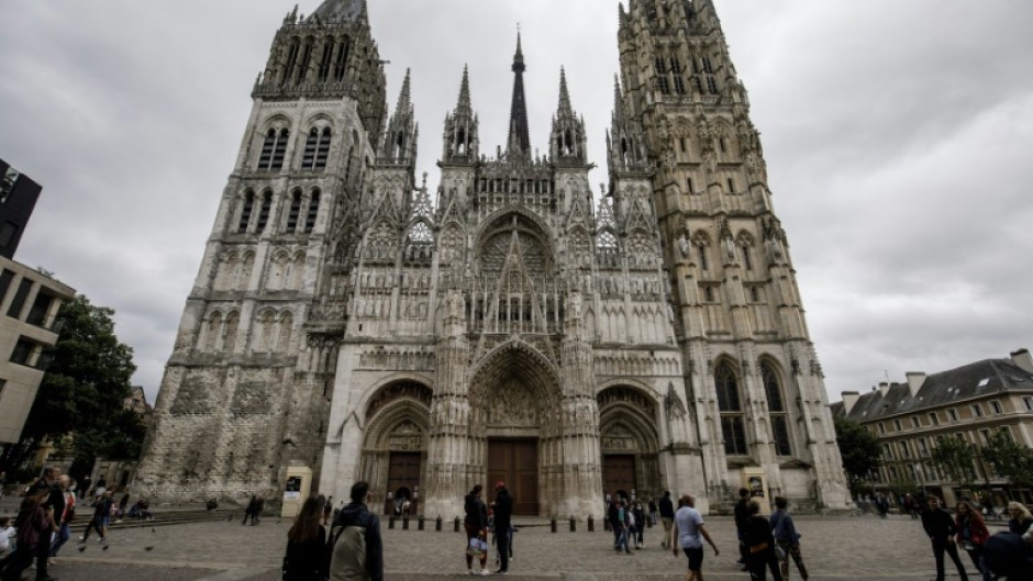
[[[488,440],[488,503],[495,500],[495,483],[500,480],[513,498],[513,514],[538,514],[537,440]]]

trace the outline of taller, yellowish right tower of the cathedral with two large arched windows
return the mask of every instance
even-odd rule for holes
[[[713,1],[631,0],[619,18],[610,165],[630,175],[640,146],[651,156],[707,495],[763,473],[770,494],[843,507],[821,365]]]

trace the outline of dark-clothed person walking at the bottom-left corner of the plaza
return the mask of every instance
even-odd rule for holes
[[[15,537],[18,547],[14,549],[14,555],[3,562],[3,573],[0,576],[3,581],[19,581],[22,572],[32,565],[33,557],[37,560],[36,581],[54,581],[54,578],[46,571],[51,534],[57,528],[54,524],[53,510],[45,507],[49,494],[48,485],[37,483],[22,500],[18,517],[14,519],[14,528],[18,529]],[[43,555],[42,569],[38,563],[40,555]]]

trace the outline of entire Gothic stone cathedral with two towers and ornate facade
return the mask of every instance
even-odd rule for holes
[[[721,511],[742,487],[845,507],[821,365],[713,0],[630,0],[619,19],[601,189],[566,77],[558,98],[525,91],[519,35],[511,102],[481,103],[509,107],[507,143],[482,147],[457,64],[433,188],[415,175],[409,76],[389,111],[365,0],[289,13],[137,493],[276,503],[301,468],[312,491],[345,499],[367,480],[378,511],[408,501],[444,518],[498,480],[522,515],[599,518],[607,495],[664,490]],[[541,155],[529,94],[557,102]]]

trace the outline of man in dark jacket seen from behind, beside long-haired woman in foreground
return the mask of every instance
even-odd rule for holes
[[[380,519],[366,507],[369,483],[352,484],[349,498],[330,533],[330,581],[384,581]]]

